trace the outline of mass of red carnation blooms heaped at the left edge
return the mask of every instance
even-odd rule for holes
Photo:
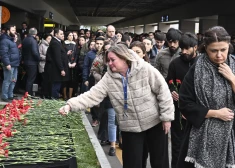
[[[7,147],[10,145],[7,138],[14,136],[17,131],[13,129],[16,122],[26,125],[24,115],[32,107],[32,99],[28,99],[28,92],[20,100],[13,100],[0,110],[0,156],[8,157]]]

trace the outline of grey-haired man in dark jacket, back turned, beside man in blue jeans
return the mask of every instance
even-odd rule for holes
[[[27,81],[25,91],[33,94],[33,83],[37,77],[38,63],[40,54],[38,43],[35,39],[37,35],[36,28],[30,28],[28,36],[22,42],[22,60],[26,69]]]

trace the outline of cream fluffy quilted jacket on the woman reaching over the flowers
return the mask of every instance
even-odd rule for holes
[[[130,51],[135,61],[128,74],[128,118],[123,117],[122,78],[109,67],[103,78],[90,91],[69,99],[72,111],[98,105],[107,95],[117,113],[120,129],[142,132],[161,121],[174,120],[174,104],[168,85],[160,72]]]

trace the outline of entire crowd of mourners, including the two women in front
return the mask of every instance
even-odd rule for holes
[[[234,37],[223,27],[141,35],[112,25],[54,28],[40,37],[25,24],[0,36],[3,101],[14,98],[22,66],[25,91],[39,78],[41,98],[66,101],[61,114],[90,108],[108,154],[117,142],[122,148],[123,168],[146,168],[148,157],[152,168],[235,167]]]

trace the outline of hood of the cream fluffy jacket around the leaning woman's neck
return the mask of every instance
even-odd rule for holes
[[[130,73],[127,75],[127,77],[135,76],[145,64],[144,59],[140,58],[133,50],[129,49],[129,52],[132,56],[131,58],[132,61],[131,61]],[[109,66],[107,67],[107,72],[113,78],[121,78],[120,73],[112,72]]]

